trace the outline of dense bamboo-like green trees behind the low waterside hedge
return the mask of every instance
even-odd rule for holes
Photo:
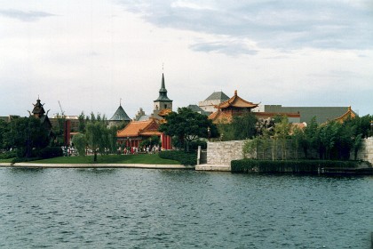
[[[356,159],[362,139],[373,135],[372,120],[373,116],[368,115],[317,124],[314,116],[301,128],[290,124],[286,116],[276,116],[274,126],[257,130],[249,137],[243,152],[255,151],[259,159],[271,157],[273,160],[279,155],[281,159],[289,156],[298,159],[298,155],[303,155],[305,158],[348,160],[351,153]]]

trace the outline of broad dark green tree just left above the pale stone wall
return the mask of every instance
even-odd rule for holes
[[[159,131],[179,138],[184,148],[189,151],[189,143],[199,138],[218,137],[218,128],[212,121],[190,108],[178,108],[178,112],[171,112],[165,116],[166,123],[161,124]]]

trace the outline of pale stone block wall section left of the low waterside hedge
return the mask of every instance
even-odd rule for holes
[[[231,165],[232,160],[243,159],[245,141],[215,141],[207,143],[208,165]]]

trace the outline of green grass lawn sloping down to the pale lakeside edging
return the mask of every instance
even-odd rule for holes
[[[30,164],[144,164],[144,165],[179,165],[178,161],[163,159],[157,154],[138,155],[105,155],[98,156],[97,162],[93,162],[93,156],[87,157],[54,157],[50,159],[36,160]]]

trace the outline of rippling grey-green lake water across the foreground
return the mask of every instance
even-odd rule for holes
[[[370,248],[373,178],[0,169],[0,248]]]

